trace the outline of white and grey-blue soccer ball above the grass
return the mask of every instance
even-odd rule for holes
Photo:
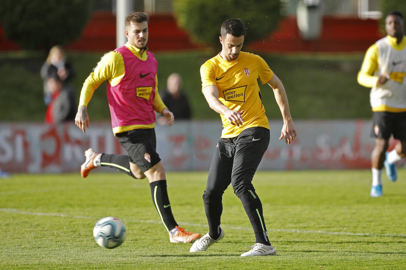
[[[99,246],[114,249],[125,240],[124,223],[115,217],[104,217],[96,222],[93,237]]]

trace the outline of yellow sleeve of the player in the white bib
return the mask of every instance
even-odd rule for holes
[[[360,85],[365,87],[374,87],[376,85],[378,76],[374,76],[374,72],[378,70],[378,55],[378,45],[374,44],[368,48],[357,76]]]

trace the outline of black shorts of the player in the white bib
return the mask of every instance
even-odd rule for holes
[[[371,136],[388,140],[391,134],[395,139],[406,141],[406,112],[373,112]]]

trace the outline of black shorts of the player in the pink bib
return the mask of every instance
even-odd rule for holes
[[[128,160],[146,172],[161,161],[156,153],[156,136],[153,128],[137,128],[117,133],[117,140],[128,153]]]

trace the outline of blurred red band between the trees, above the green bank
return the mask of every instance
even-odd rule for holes
[[[192,42],[188,33],[179,28],[173,15],[151,15],[148,47],[157,51],[187,51],[203,49]],[[365,52],[384,34],[375,19],[324,17],[318,40],[300,37],[296,17],[286,17],[279,29],[268,37],[247,44],[250,51],[263,52]],[[116,48],[116,17],[109,12],[93,13],[78,40],[66,46],[73,51],[110,51]],[[7,40],[0,26],[0,51],[19,50],[19,45]]]

